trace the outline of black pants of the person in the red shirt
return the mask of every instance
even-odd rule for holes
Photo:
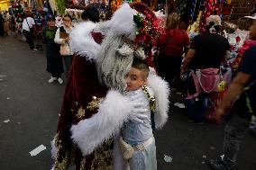
[[[182,56],[160,56],[157,59],[158,72],[171,85],[174,78],[179,79]]]

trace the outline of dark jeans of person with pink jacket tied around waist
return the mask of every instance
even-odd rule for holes
[[[185,114],[189,120],[202,122],[207,108],[208,94],[203,92],[197,96],[197,99],[198,101],[196,98],[186,99],[187,110]]]

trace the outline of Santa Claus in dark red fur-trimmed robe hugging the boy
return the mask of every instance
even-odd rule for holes
[[[133,58],[145,56],[142,47],[150,49],[160,33],[158,22],[147,7],[131,6],[123,4],[108,22],[81,23],[70,34],[77,56],[52,141],[54,169],[68,169],[72,163],[76,169],[127,169],[116,142],[123,123],[136,117],[131,112],[136,110],[138,101],[127,100],[123,95],[125,76]],[[147,24],[148,29],[143,30],[145,25],[140,29],[140,23]],[[168,120],[169,86],[153,72],[148,86],[155,94],[154,121],[160,129]]]

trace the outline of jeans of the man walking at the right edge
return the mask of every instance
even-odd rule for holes
[[[236,165],[241,139],[249,129],[251,120],[239,117],[233,113],[224,129],[224,164],[230,168]]]

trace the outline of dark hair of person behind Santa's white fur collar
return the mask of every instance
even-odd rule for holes
[[[88,5],[85,8],[85,11],[81,14],[81,18],[91,22],[99,22],[99,12],[96,7]]]

